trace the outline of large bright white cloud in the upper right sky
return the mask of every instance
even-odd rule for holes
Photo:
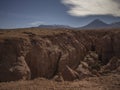
[[[113,15],[120,16],[119,0],[62,0],[72,16]]]

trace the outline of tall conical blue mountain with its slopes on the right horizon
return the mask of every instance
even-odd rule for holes
[[[99,19],[96,19],[80,28],[81,29],[120,28],[120,22],[107,24]]]

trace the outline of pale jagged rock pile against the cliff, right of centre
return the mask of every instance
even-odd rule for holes
[[[86,76],[99,75],[96,71],[98,68],[98,55],[94,51],[89,51],[84,60],[80,62],[76,71],[80,74],[80,79]]]

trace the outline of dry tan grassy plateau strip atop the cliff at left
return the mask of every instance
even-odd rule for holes
[[[21,28],[21,29],[6,29],[0,30],[0,38],[6,37],[23,37],[27,38],[28,35],[55,35],[63,32],[67,32],[68,30],[59,30],[59,29],[39,29],[39,28]]]

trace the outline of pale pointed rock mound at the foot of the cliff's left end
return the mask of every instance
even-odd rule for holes
[[[29,80],[31,79],[31,71],[26,64],[26,61],[23,56],[17,58],[17,62],[13,63],[12,67],[9,69],[13,73],[16,80]]]

